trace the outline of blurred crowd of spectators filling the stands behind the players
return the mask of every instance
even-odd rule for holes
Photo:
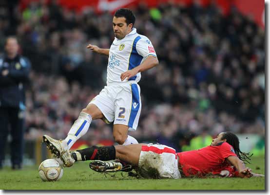
[[[133,11],[135,28],[152,41],[159,65],[142,73],[142,111],[132,136],[181,150],[197,135],[264,134],[264,29],[234,8],[224,17],[214,4],[141,4]],[[3,6],[0,52],[10,34],[32,62],[26,138],[65,138],[81,109],[106,85],[108,59],[86,46],[110,47],[112,15],[91,8],[77,13],[57,0],[32,2],[23,10]],[[81,139],[112,142],[112,125],[96,120]]]

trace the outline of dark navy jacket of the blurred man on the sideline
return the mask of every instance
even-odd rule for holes
[[[28,81],[31,64],[23,56],[14,59],[0,56],[0,107],[25,108],[25,83]],[[2,71],[8,70],[6,76]]]

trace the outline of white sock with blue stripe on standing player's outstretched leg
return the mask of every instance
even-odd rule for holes
[[[66,137],[65,141],[68,144],[68,149],[86,132],[88,131],[89,125],[92,122],[92,117],[90,114],[85,112],[81,112],[79,114],[78,119],[72,125],[71,129],[68,132],[68,136]]]

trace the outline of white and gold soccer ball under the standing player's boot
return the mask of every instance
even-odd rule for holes
[[[39,177],[43,181],[58,181],[63,176],[63,168],[55,159],[47,159],[39,165]]]

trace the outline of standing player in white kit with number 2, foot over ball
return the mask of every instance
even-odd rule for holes
[[[67,167],[73,164],[69,149],[87,132],[92,120],[102,119],[107,124],[114,121],[113,136],[117,143],[138,143],[128,135],[128,130],[136,130],[141,111],[140,87],[137,83],[140,72],[156,66],[158,59],[151,41],[136,32],[134,23],[132,11],[121,8],[113,18],[115,40],[110,49],[87,46],[93,52],[109,56],[107,86],[82,109],[64,140],[43,136],[51,152]]]

